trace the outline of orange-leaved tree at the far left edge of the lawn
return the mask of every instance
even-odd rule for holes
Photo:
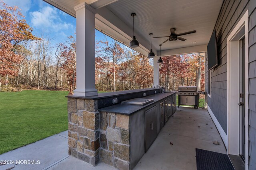
[[[0,81],[1,77],[17,76],[22,56],[15,52],[22,41],[38,39],[17,6],[0,1]],[[1,85],[1,83],[0,83]]]

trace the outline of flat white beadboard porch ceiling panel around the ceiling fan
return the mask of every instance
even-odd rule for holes
[[[135,31],[148,41],[149,33],[153,33],[152,37],[168,36],[170,28],[176,28],[176,33],[196,30],[181,36],[186,41],[164,43],[162,50],[167,50],[208,44],[221,5],[222,0],[119,0],[106,7],[129,27],[132,27],[130,14],[136,13]],[[160,50],[158,45],[167,38],[152,39],[152,44]],[[192,44],[194,41],[197,43]]]

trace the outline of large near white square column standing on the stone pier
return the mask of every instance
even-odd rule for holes
[[[83,2],[76,11],[76,89],[74,96],[95,96],[95,14]]]

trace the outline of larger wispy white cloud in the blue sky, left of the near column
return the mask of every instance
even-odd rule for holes
[[[45,6],[39,11],[30,12],[32,27],[44,28],[54,32],[73,28],[71,23],[62,21],[58,16],[58,10],[50,6]]]

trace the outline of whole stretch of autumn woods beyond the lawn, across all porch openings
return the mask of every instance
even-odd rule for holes
[[[76,88],[76,39],[53,44],[32,34],[17,7],[0,2],[0,90]],[[107,36],[96,42],[95,84],[100,91],[150,88],[153,61]],[[160,84],[204,89],[204,54],[162,57]]]

